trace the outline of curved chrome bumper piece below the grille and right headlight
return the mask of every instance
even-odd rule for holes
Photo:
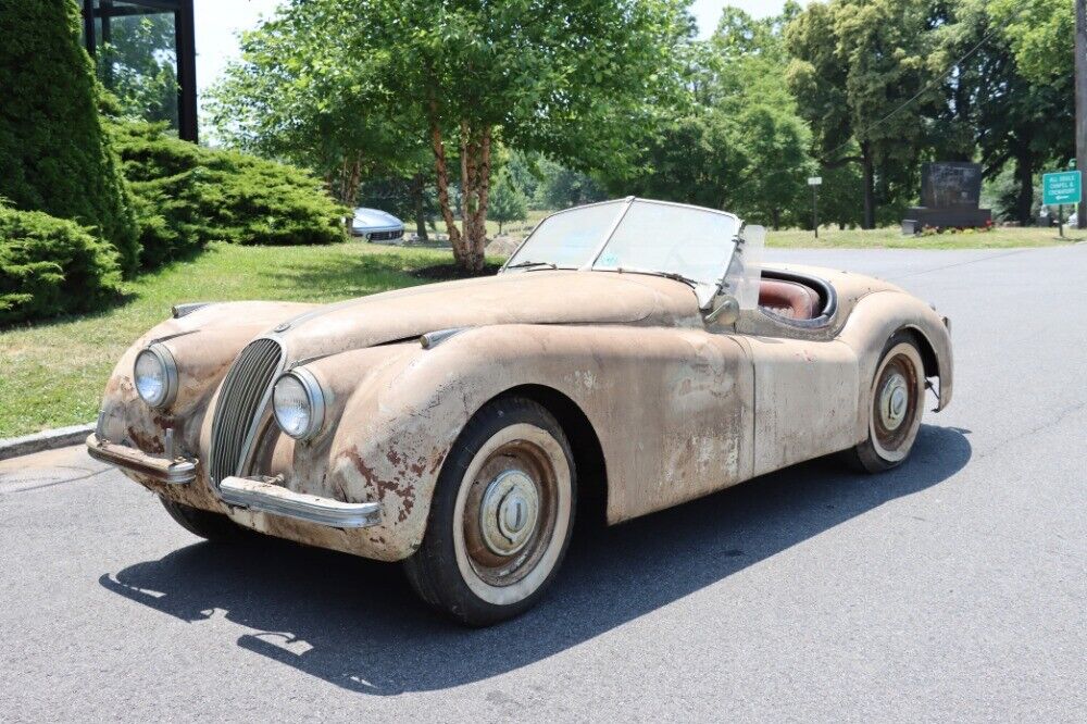
[[[348,503],[295,492],[263,479],[226,477],[218,484],[218,491],[223,501],[230,505],[334,528],[365,528],[382,522],[380,503]]]

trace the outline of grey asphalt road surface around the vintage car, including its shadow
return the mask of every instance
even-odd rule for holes
[[[78,449],[0,463],[0,719],[1084,721],[1087,245],[771,251],[953,321],[954,402],[878,477],[820,460],[575,539],[465,631],[396,566],[201,542]]]

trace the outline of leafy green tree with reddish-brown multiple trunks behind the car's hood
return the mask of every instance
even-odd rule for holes
[[[629,165],[630,141],[671,92],[682,0],[384,0],[365,5],[367,47],[389,51],[389,87],[426,120],[438,203],[458,263],[484,263],[497,137],[578,167]],[[460,161],[460,216],[449,200]]]

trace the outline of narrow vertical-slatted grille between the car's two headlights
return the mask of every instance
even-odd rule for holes
[[[263,414],[261,402],[283,360],[283,349],[271,339],[250,342],[230,365],[223,382],[211,425],[211,464],[213,485],[229,475],[242,473],[249,453],[247,440],[254,423]],[[252,441],[249,441],[252,445]]]

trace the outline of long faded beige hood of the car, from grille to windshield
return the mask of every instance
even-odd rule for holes
[[[539,271],[447,282],[316,307],[274,328],[295,359],[452,327],[493,324],[679,325],[697,321],[687,285],[609,272]]]

